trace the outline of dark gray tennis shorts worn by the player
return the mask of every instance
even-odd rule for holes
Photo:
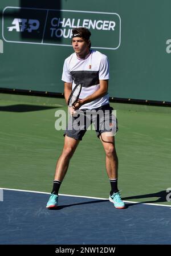
[[[78,109],[73,116],[70,116],[64,136],[82,140],[86,131],[91,128],[91,124],[93,124],[97,137],[100,137],[103,132],[112,132],[114,136],[118,127],[116,116],[113,115],[112,110],[113,108],[109,104],[92,110]]]

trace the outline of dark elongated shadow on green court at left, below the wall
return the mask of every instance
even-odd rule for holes
[[[1,106],[0,111],[7,111],[7,112],[30,112],[30,111],[39,111],[39,110],[46,110],[58,107],[48,107],[42,105],[27,105],[27,104],[18,104],[18,105],[9,105],[9,106]]]

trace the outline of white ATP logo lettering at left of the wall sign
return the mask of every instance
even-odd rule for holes
[[[9,31],[17,31],[17,32],[32,32],[32,30],[38,30],[40,26],[40,22],[38,19],[20,19],[20,18],[15,18],[14,21],[12,22],[11,27],[7,27]]]

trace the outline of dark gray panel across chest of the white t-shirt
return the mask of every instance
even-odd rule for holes
[[[99,84],[99,71],[71,71],[75,84],[81,83],[83,87]]]

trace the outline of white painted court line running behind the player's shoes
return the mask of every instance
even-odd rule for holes
[[[14,191],[21,191],[21,192],[31,192],[31,193],[40,193],[40,194],[50,194],[47,192],[40,192],[40,191],[32,191],[32,190],[23,190],[23,189],[9,189],[9,188],[0,188],[4,190],[14,190]],[[87,197],[87,196],[75,196],[74,194],[59,194],[59,196],[66,196],[66,197],[83,197],[83,198],[91,198],[91,199],[99,199],[99,200],[108,200],[108,198],[101,198],[101,197]],[[125,201],[128,204],[142,204],[142,205],[155,205],[155,206],[166,206],[170,207],[171,205],[161,205],[161,204],[151,204],[151,203],[143,203],[143,202],[134,202],[134,201]]]

